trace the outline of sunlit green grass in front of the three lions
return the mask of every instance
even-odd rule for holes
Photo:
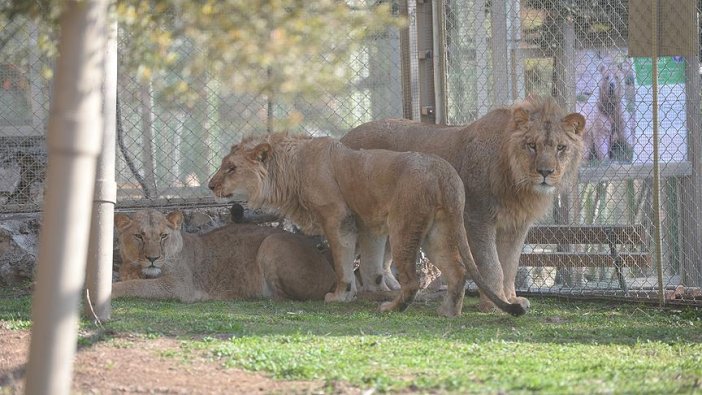
[[[0,322],[29,326],[28,296],[3,302]],[[702,392],[702,310],[531,298],[529,314],[513,318],[478,313],[476,302],[467,298],[463,315],[446,319],[436,303],[380,314],[368,302],[126,299],[113,303],[101,340],[125,332],[177,337],[180,350],[165,357],[204,355],[330,388],[344,381],[390,392]]]

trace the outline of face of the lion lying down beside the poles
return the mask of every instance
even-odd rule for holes
[[[143,210],[131,217],[115,214],[123,264],[139,266],[146,278],[161,275],[161,270],[183,248],[180,234],[183,214],[163,215],[156,210]]]

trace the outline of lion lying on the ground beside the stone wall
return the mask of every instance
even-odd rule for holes
[[[182,224],[179,211],[115,214],[122,266],[146,278],[114,283],[112,297],[321,300],[335,286],[330,261],[302,235],[246,224],[194,235]]]

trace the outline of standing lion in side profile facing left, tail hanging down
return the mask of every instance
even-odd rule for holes
[[[437,156],[356,151],[330,137],[248,137],[222,159],[209,187],[218,198],[276,209],[303,232],[323,234],[336,272],[336,288],[326,294],[327,302],[356,297],[357,241],[361,268],[375,272],[375,284],[383,283],[389,236],[401,289],[380,311],[404,311],[413,301],[419,290],[415,260],[422,245],[448,279],[440,314],[461,313],[466,270],[500,309],[518,316],[528,307],[510,304],[483,285],[461,220],[461,179]]]

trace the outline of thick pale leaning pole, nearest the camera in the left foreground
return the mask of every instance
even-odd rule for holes
[[[25,392],[68,394],[103,134],[107,0],[62,2]]]

